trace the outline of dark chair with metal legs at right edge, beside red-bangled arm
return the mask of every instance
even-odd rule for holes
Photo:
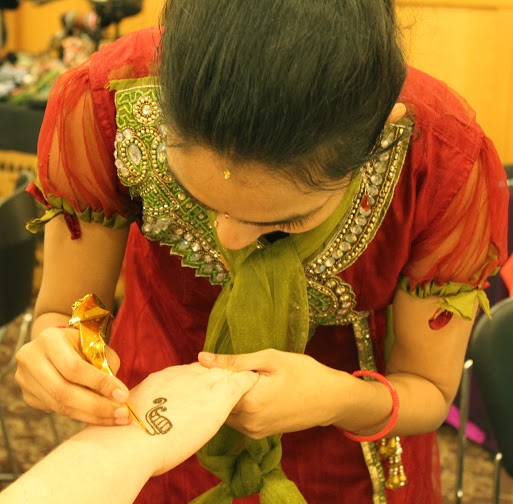
[[[501,468],[513,476],[513,298],[503,299],[491,309],[492,318],[482,316],[476,323],[465,362],[461,391],[459,482],[456,495],[461,502],[465,426],[468,415],[470,373],[477,382],[486,414],[497,440],[494,491],[491,502],[499,504]]]

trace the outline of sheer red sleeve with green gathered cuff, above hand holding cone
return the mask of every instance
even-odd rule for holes
[[[89,70],[86,62],[66,72],[50,95],[38,143],[38,180],[30,189],[51,209],[42,224],[62,212],[110,227],[137,217],[137,205],[117,178],[113,139],[97,119]]]

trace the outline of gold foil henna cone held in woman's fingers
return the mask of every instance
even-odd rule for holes
[[[73,303],[69,325],[80,332],[80,349],[84,357],[94,367],[114,376],[105,355],[105,338],[112,314],[103,306],[94,294],[87,294]],[[148,433],[148,429],[127,403],[127,408],[134,420]]]

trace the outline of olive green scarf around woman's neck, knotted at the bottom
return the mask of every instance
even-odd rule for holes
[[[237,251],[217,240],[231,280],[212,309],[205,351],[241,354],[274,348],[304,353],[309,308],[303,263],[326,246],[360,181],[358,173],[335,212],[310,231],[291,234],[264,248],[252,244]],[[214,218],[210,215],[211,223]],[[281,469],[280,439],[280,434],[250,439],[224,425],[198,452],[201,464],[222,481],[192,502],[229,504],[234,498],[260,493],[262,504],[305,503]]]

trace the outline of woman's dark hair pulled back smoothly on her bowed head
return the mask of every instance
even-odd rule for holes
[[[181,141],[314,186],[369,159],[406,74],[393,0],[169,0],[159,58]]]

